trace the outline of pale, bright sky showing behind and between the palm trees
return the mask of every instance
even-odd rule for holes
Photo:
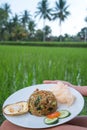
[[[10,5],[11,11],[13,15],[21,14],[24,10],[30,11],[30,14],[34,16],[35,11],[37,11],[37,3],[40,0],[0,0],[0,6],[4,3],[8,3]],[[55,7],[55,1],[58,0],[48,0],[50,7]],[[87,0],[66,0],[67,5],[69,5],[68,11],[70,15],[67,19],[62,23],[62,35],[76,35],[81,31],[83,27],[87,26],[87,22],[85,22],[85,17],[87,16]],[[39,19],[39,17],[35,18],[35,22],[37,24],[36,29],[43,28],[43,21]],[[49,22],[46,20],[46,25],[51,27],[52,35],[59,36],[60,35],[60,27],[59,20]]]

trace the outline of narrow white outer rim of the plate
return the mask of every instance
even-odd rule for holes
[[[48,88],[49,87],[52,87],[53,85],[56,85],[56,84],[36,84],[36,85],[31,85],[31,86],[28,86],[28,87],[25,87],[25,88],[22,88],[22,89],[20,89],[20,90],[17,90],[16,92],[14,92],[13,94],[11,94],[5,101],[4,101],[4,103],[3,103],[3,107],[6,105],[6,103],[7,103],[7,101],[9,101],[9,99],[13,96],[15,96],[16,94],[18,94],[18,93],[20,93],[20,91],[23,91],[23,90],[27,90],[27,89],[35,89],[35,88],[38,88],[38,87],[46,87],[46,86],[48,86]],[[32,88],[31,88],[32,87]],[[46,90],[48,90],[48,88],[46,89]],[[70,91],[74,91],[74,92],[76,92],[76,93],[78,93],[78,95],[80,96],[80,98],[83,100],[83,102],[82,102],[82,106],[81,106],[81,109],[79,110],[79,112],[78,112],[78,114],[82,111],[82,109],[83,109],[83,107],[84,107],[84,98],[83,98],[83,96],[81,95],[81,93],[79,92],[79,91],[77,91],[76,89],[74,89],[74,88],[72,88],[72,87],[70,87],[69,86],[69,88],[70,88]],[[41,88],[40,88],[41,89]],[[41,89],[42,90],[42,89]],[[43,89],[44,90],[44,89]],[[33,91],[33,90],[32,90]],[[32,93],[32,92],[31,92]],[[75,118],[78,114],[76,114],[73,118]],[[50,128],[50,127],[54,127],[54,126],[58,126],[58,125],[60,125],[60,124],[63,124],[63,123],[66,123],[66,122],[68,122],[68,121],[70,121],[71,119],[73,119],[73,118],[71,118],[71,119],[69,119],[69,120],[67,120],[66,122],[63,122],[63,123],[58,123],[58,124],[53,124],[53,125],[46,125],[46,124],[44,124],[44,126],[43,127],[35,127],[35,126],[32,126],[32,127],[30,127],[30,126],[24,126],[24,125],[21,125],[21,124],[17,124],[17,123],[15,123],[14,121],[11,121],[10,119],[9,119],[9,116],[7,116],[7,115],[5,115],[5,114],[3,114],[4,116],[5,116],[5,118],[7,119],[7,120],[9,120],[11,123],[13,123],[13,124],[15,124],[15,125],[17,125],[17,126],[21,126],[21,127],[24,127],[24,128],[37,128],[37,129],[39,129],[39,128]]]

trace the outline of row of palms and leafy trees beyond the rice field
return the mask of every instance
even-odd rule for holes
[[[70,15],[66,0],[57,0],[53,8],[50,7],[48,0],[39,1],[33,14],[34,18],[29,10],[13,15],[10,5],[3,3],[0,5],[0,41],[87,41],[87,27],[83,27],[74,36],[69,34],[62,36],[61,26]],[[43,19],[42,29],[36,29],[38,24],[35,22],[36,17]],[[54,22],[58,20],[60,36],[51,35],[52,30],[46,25],[46,20]],[[87,16],[84,20],[87,22]]]

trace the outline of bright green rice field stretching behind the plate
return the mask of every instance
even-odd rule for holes
[[[0,122],[3,102],[10,94],[45,79],[87,85],[87,49],[0,46]],[[87,114],[86,107],[81,114]]]

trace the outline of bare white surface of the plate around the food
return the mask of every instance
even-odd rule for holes
[[[21,90],[18,90],[17,92],[15,92],[14,94],[12,94],[11,96],[7,98],[7,100],[3,104],[3,107],[7,104],[12,104],[18,101],[27,101],[29,96],[33,93],[33,91],[36,88],[39,88],[40,90],[49,90],[52,86],[54,86],[54,84],[39,84],[39,85],[34,85],[34,86],[30,86],[30,87],[26,87]],[[84,106],[84,99],[82,95],[71,87],[69,87],[69,89],[76,96],[76,100],[74,104],[70,107],[66,105],[61,105],[59,106],[58,109],[69,110],[71,112],[71,115],[67,118],[60,119],[57,124],[46,125],[44,123],[45,117],[37,117],[29,113],[20,115],[20,116],[6,116],[6,115],[4,116],[11,123],[18,126],[25,127],[25,128],[48,128],[48,127],[53,127],[53,126],[63,124],[67,121],[70,121],[74,117],[76,117],[81,112]]]

